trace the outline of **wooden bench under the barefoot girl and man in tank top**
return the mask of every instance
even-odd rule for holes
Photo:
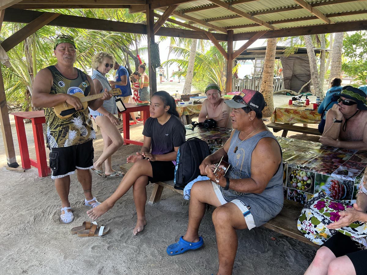
[[[131,168],[132,165],[133,165],[132,163],[127,163],[121,165],[120,169],[122,172],[126,173]],[[154,184],[152,195],[150,196],[149,199],[149,204],[159,202],[163,188],[170,189],[183,195],[182,190],[177,190],[174,188],[173,180],[164,182],[159,181]],[[315,243],[306,239],[305,236],[301,233],[301,231],[297,229],[297,220],[299,214],[301,213],[302,208],[303,205],[301,205],[300,203],[285,200],[283,209],[280,211],[280,213],[263,226],[265,228],[281,233],[293,239],[297,239],[298,241],[319,247],[319,245],[316,245]]]

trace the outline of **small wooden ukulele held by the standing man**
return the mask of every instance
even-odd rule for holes
[[[111,91],[109,91],[109,93],[112,95],[121,95],[121,89],[120,88],[112,89]],[[88,101],[91,101],[97,98],[102,98],[103,93],[96,94],[96,95],[88,95],[88,96],[84,96],[83,93],[75,93],[72,96],[76,96],[77,98],[80,99],[81,103],[83,104],[83,109],[81,110],[84,110],[88,108]],[[66,101],[63,103],[57,104],[56,106],[52,107],[52,109],[54,110],[55,114],[61,119],[69,118],[77,111],[81,111],[81,110],[75,110],[74,106],[70,105],[69,103],[66,103]]]

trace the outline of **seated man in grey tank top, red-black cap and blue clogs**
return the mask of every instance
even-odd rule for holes
[[[214,274],[232,274],[238,244],[236,230],[251,230],[266,223],[280,212],[284,201],[281,148],[262,121],[264,96],[244,89],[225,103],[232,108],[234,131],[221,149],[201,163],[201,175],[210,180],[193,184],[186,234],[167,247],[167,254],[173,256],[203,246],[199,226],[206,203],[216,206],[212,220],[219,269]],[[214,174],[214,164],[222,158],[230,168],[220,177]]]

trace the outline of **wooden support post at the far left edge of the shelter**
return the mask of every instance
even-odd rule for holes
[[[5,10],[0,11],[0,32],[1,32],[1,25],[3,24],[4,13]],[[1,72],[1,66],[0,66],[0,124],[1,124],[1,133],[3,133],[6,162],[9,167],[17,168],[19,164],[17,163],[17,158],[15,157],[13,135],[11,133],[8,105],[6,103],[4,80],[3,80],[3,73]]]

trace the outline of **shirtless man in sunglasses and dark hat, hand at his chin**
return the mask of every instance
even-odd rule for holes
[[[367,151],[367,100],[358,88],[345,86],[335,95],[338,104],[326,114],[319,141],[328,146]]]

